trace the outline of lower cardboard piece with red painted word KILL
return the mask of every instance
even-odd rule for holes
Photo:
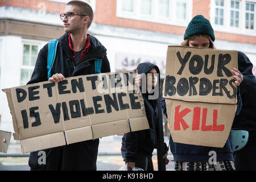
[[[167,99],[166,106],[174,142],[224,147],[236,114],[236,105]]]

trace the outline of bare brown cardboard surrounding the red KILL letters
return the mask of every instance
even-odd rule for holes
[[[186,102],[180,100],[166,100],[168,122],[172,139],[177,143],[194,144],[198,146],[209,147],[224,147],[228,139],[234,115],[236,113],[236,105],[232,104],[212,104],[204,102]],[[188,108],[191,110],[184,115],[183,119],[189,126],[184,130],[184,127],[179,123],[180,130],[175,130],[175,107],[180,106],[179,113]],[[200,107],[200,125],[193,130],[193,114],[195,107]],[[202,131],[203,109],[207,108],[207,119],[205,126],[209,131]],[[217,126],[224,125],[223,131],[213,131],[213,110],[217,110]],[[177,120],[176,120],[177,121]],[[196,120],[195,120],[196,121]],[[212,128],[210,130],[210,127]],[[205,127],[205,128],[207,128]],[[216,128],[216,127],[215,127]]]

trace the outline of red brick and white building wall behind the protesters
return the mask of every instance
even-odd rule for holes
[[[118,0],[117,0],[118,1]],[[180,45],[188,22],[197,14],[212,18],[211,0],[191,1],[191,18],[185,22],[156,23],[142,19],[122,18],[116,0],[94,0],[94,22],[89,33],[108,49],[112,71],[134,69],[139,61],[155,63],[164,73],[168,45]],[[176,0],[175,0],[176,1]],[[226,0],[225,0],[226,1]],[[254,1],[254,0],[253,0]],[[58,38],[63,31],[59,14],[64,12],[66,0],[2,0],[0,2],[0,88],[20,85],[23,43],[36,43],[39,49],[49,39]],[[255,7],[256,8],[256,7]],[[46,10],[46,11],[44,11]],[[255,24],[256,26],[256,24]],[[216,27],[220,30],[220,27]],[[215,29],[215,27],[214,27]],[[256,32],[215,31],[218,49],[245,52],[256,65]],[[15,52],[15,53],[14,53]],[[140,63],[141,63],[140,62]],[[0,129],[13,131],[6,95],[0,92]],[[14,140],[12,138],[12,143]]]

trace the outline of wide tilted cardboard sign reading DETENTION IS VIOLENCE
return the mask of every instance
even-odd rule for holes
[[[40,82],[6,92],[22,152],[149,129],[135,72]]]

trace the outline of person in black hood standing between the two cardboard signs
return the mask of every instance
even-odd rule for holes
[[[146,81],[146,89],[141,84],[144,107],[150,129],[126,133],[122,138],[122,156],[127,168],[139,167],[144,170],[152,168],[151,157],[157,148],[158,170],[165,171],[168,148],[163,138],[162,109],[160,106],[159,68],[151,63],[141,63],[137,67],[140,80]],[[145,79],[144,79],[145,78]],[[140,82],[141,83],[141,82]],[[137,84],[135,80],[135,84]],[[143,92],[145,90],[146,92]]]

